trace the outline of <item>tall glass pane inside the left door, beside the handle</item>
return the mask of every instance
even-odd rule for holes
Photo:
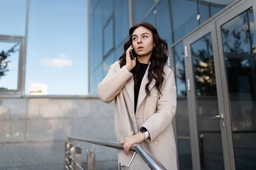
[[[202,170],[224,170],[211,34],[191,45]]]

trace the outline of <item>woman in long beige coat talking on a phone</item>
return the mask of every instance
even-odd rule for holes
[[[177,170],[172,129],[176,86],[173,71],[165,65],[168,45],[149,23],[131,27],[129,36],[125,53],[98,85],[103,102],[115,100],[116,139],[124,145],[124,151],[118,152],[119,163],[128,165],[132,145],[143,144],[167,170]],[[148,169],[139,155],[130,168]]]

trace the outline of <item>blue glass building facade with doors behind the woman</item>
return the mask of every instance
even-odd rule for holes
[[[256,168],[255,24],[250,0],[91,0],[90,95],[145,21],[169,44],[180,170]],[[244,139],[244,140],[243,140]]]

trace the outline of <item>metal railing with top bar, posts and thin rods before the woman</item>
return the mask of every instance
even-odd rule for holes
[[[80,141],[80,142],[87,142],[87,143],[94,144],[91,151],[87,150],[87,170],[96,170],[96,154],[93,153],[93,150],[96,147],[96,145],[111,147],[118,150],[124,150],[123,145],[119,144],[119,142],[81,139],[81,138],[75,138],[75,137],[69,136],[68,142],[66,142],[66,145],[65,145],[66,147],[65,168],[67,170],[84,170],[81,166],[81,162],[82,162],[81,148],[79,146],[73,145],[72,141]],[[151,170],[166,170],[163,167],[163,165],[160,164],[159,161],[153,158],[151,153],[149,153],[148,150],[146,150],[142,144],[135,145],[135,147],[131,149],[131,152],[134,152],[131,158],[131,161],[127,166],[123,164],[119,164],[119,170],[131,170],[129,167],[136,154],[139,154],[140,157],[143,158],[143,160],[145,161],[145,164],[147,164]]]

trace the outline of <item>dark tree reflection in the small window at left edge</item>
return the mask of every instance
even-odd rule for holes
[[[14,54],[17,51],[19,51],[19,49],[16,49],[18,45],[19,43],[15,44],[14,46],[12,46],[12,48],[10,48],[7,51],[3,51],[3,50],[0,51],[0,79],[6,76],[6,73],[9,71],[8,65],[11,62],[9,57],[11,56],[11,54]],[[7,89],[7,88],[0,87],[0,89]]]

